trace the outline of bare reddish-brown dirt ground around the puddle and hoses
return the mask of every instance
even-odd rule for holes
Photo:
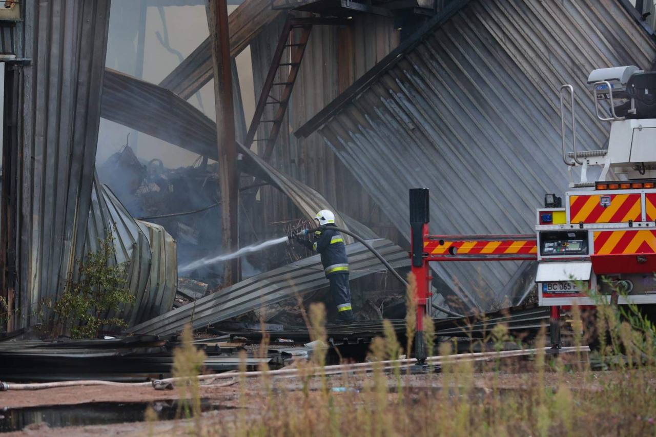
[[[502,389],[521,390],[531,379],[531,373],[520,374],[492,374],[476,373],[476,387],[487,390],[487,385],[492,377],[499,377],[499,387]],[[589,374],[588,374],[589,375]],[[545,375],[547,385],[556,385],[556,375]],[[350,378],[345,382],[344,377],[329,377],[329,386],[341,387],[348,385],[348,390],[359,390],[365,387],[371,375],[360,375],[356,379]],[[567,383],[572,388],[584,388],[594,390],[594,385],[584,385],[583,375],[569,373]],[[222,381],[225,384],[226,381]],[[312,388],[319,387],[318,381],[312,384]],[[388,385],[396,386],[396,381],[388,377]],[[431,390],[441,385],[441,375],[403,375],[403,385],[420,390]],[[298,394],[302,390],[302,382],[298,378],[278,377],[273,380],[274,391],[287,391]],[[262,402],[264,391],[260,379],[249,379],[245,387],[241,388],[235,380],[230,386],[201,386],[201,398],[211,400],[213,404],[219,404],[226,409],[207,411],[203,413],[203,423],[211,426],[216,423],[219,426],[221,418],[226,415],[236,414],[235,408],[246,406],[248,414],[257,415],[258,408]],[[240,398],[243,392],[244,398]],[[35,391],[8,391],[0,392],[0,411],[2,407],[30,407],[51,405],[73,405],[86,402],[154,402],[159,400],[174,400],[178,398],[175,390],[154,390],[149,386],[123,387],[123,386],[82,386],[67,388],[50,388]],[[245,402],[244,402],[245,400]],[[243,411],[243,410],[242,410]],[[30,425],[20,432],[5,434],[7,436],[146,436],[146,435],[176,435],[184,433],[187,429],[186,421],[171,420],[157,421],[156,423],[136,422],[119,423],[112,425],[90,425],[83,427],[49,428],[46,425]]]

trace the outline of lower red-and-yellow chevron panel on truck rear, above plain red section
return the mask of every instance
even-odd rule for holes
[[[596,255],[656,253],[656,230],[594,232]]]

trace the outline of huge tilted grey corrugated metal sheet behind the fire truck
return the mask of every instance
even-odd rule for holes
[[[594,115],[588,73],[649,69],[655,56],[621,1],[455,1],[300,130],[323,125],[403,234],[415,187],[431,190],[432,233],[529,233],[544,194],[567,188],[560,85],[577,92],[579,144],[602,148],[609,127]],[[485,308],[502,301],[517,264],[434,268]]]

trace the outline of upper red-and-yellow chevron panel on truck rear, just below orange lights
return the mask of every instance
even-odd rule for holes
[[[602,205],[602,197],[610,198],[610,205]],[[619,223],[640,221],[640,194],[594,194],[569,197],[570,223]]]

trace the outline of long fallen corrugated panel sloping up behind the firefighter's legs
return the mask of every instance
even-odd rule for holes
[[[407,252],[386,239],[367,241],[388,260],[394,268],[408,266]],[[379,266],[380,261],[360,243],[346,246],[350,279],[369,274],[372,267]],[[190,302],[173,311],[162,314],[152,320],[129,329],[131,333],[152,333],[164,335],[178,333],[186,323],[194,329],[211,323],[245,314],[263,306],[284,301],[295,295],[304,295],[326,287],[321,259],[314,255],[264,272],[241,281],[230,287],[207,295],[195,302]]]

